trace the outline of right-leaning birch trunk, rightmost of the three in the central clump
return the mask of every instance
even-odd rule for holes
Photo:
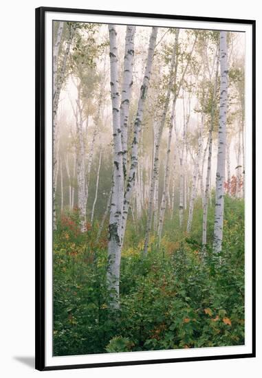
[[[129,169],[129,175],[127,177],[127,188],[124,193],[124,208],[123,208],[123,219],[122,219],[122,232],[121,239],[124,241],[124,232],[127,226],[127,216],[129,211],[129,203],[133,194],[133,189],[135,186],[135,175],[137,173],[138,167],[138,151],[140,145],[140,133],[142,127],[142,120],[144,116],[144,104],[146,101],[146,93],[149,87],[149,80],[151,77],[151,68],[153,65],[153,56],[155,52],[155,41],[157,38],[157,27],[152,27],[152,32],[149,41],[149,50],[146,60],[146,67],[144,70],[144,78],[142,86],[140,88],[140,98],[138,100],[138,111],[135,117],[135,125],[133,131],[133,142],[131,144],[131,166]]]

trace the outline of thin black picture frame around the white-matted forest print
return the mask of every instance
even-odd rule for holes
[[[105,16],[143,17],[147,19],[170,19],[185,21],[206,21],[215,23],[249,24],[252,25],[252,353],[238,355],[208,355],[206,357],[182,357],[171,359],[150,359],[127,362],[102,362],[94,364],[76,364],[46,366],[45,364],[45,14],[46,12],[62,12],[82,14],[98,14]],[[124,366],[141,364],[163,364],[170,362],[192,362],[215,359],[235,359],[255,357],[256,355],[256,292],[255,292],[255,123],[256,123],[256,21],[246,19],[226,19],[199,16],[177,16],[171,14],[144,14],[137,12],[112,12],[107,10],[86,10],[74,8],[36,8],[35,23],[35,159],[36,159],[36,212],[35,212],[35,367],[37,370],[60,370],[72,368],[96,368],[102,366]]]

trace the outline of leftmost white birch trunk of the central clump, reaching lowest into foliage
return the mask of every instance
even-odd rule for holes
[[[124,172],[122,159],[122,141],[120,128],[120,93],[118,82],[118,48],[116,43],[116,25],[109,25],[111,103],[113,122],[113,183],[109,217],[109,243],[107,282],[111,291],[111,306],[119,307],[119,280],[121,258],[121,227],[124,201]]]

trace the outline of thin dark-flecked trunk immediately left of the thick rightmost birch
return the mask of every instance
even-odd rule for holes
[[[219,56],[217,53],[217,69],[215,74],[215,82],[214,82],[214,90],[212,93],[212,106],[211,106],[211,120],[210,120],[210,128],[208,131],[208,164],[206,169],[206,186],[205,186],[205,193],[204,193],[204,205],[203,205],[203,225],[202,225],[202,245],[204,246],[203,250],[206,249],[206,232],[208,226],[208,197],[210,197],[210,205],[212,205],[212,195],[210,195],[210,188],[211,188],[211,162],[212,162],[212,133],[214,129],[214,121],[215,121],[215,111],[216,107],[216,97],[217,97],[217,80],[218,80],[218,71],[219,71]]]

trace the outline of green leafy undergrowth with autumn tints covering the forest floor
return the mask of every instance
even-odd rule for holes
[[[129,226],[119,309],[109,306],[107,238],[96,244],[97,225],[80,234],[77,210],[63,214],[54,235],[54,355],[243,345],[243,212],[243,200],[226,197],[219,256],[210,227],[202,251],[201,200],[191,234],[178,230],[175,216],[159,249],[151,238],[146,258]]]

